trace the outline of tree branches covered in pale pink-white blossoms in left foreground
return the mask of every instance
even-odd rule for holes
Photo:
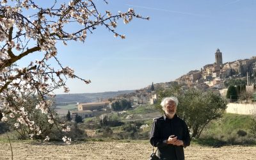
[[[105,0],[104,0],[105,1]],[[106,1],[105,1],[106,2]],[[49,98],[57,88],[63,88],[68,92],[67,78],[77,78],[90,83],[74,74],[70,67],[61,65],[58,60],[58,48],[56,44],[67,45],[70,41],[86,41],[88,33],[92,33],[98,26],[104,26],[115,36],[125,38],[116,32],[118,20],[125,24],[132,18],[143,18],[136,14],[132,8],[127,12],[119,12],[116,15],[108,10],[100,11],[93,0],[73,0],[69,3],[53,1],[40,6],[33,0],[3,0],[0,3],[0,100],[2,121],[12,118],[10,115],[22,113],[20,121],[29,129],[36,130],[27,108],[20,107],[24,103],[22,97],[38,95],[42,97],[36,104],[49,119],[49,123],[57,125],[49,106],[52,102]],[[68,26],[76,26],[68,29]],[[15,65],[19,60],[30,54],[41,55],[38,60],[31,61],[26,67]],[[51,60],[51,62],[50,62]],[[52,67],[52,63],[58,67]],[[62,127],[62,125],[60,125]]]

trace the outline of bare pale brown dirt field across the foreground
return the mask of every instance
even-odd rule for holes
[[[145,141],[84,143],[12,142],[13,159],[148,159],[152,148]],[[0,142],[0,159],[11,159],[8,142]],[[256,159],[256,147],[220,148],[191,145],[185,148],[186,159]]]

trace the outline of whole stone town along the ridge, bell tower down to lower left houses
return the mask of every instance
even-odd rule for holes
[[[157,99],[155,90],[157,88],[169,88],[173,84],[180,84],[184,88],[193,87],[200,90],[218,90],[223,96],[227,92],[225,81],[228,79],[246,79],[246,88],[252,88],[255,84],[256,56],[245,60],[236,60],[223,63],[222,52],[217,49],[215,52],[215,62],[207,64],[200,70],[191,70],[188,74],[180,76],[175,81],[167,83],[156,83],[136,90],[135,93],[120,95],[119,99],[129,99],[134,104],[154,104]],[[152,90],[154,87],[154,90]]]

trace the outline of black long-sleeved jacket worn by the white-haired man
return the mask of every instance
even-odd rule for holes
[[[165,140],[171,135],[177,136],[184,142],[184,147],[190,145],[188,126],[184,120],[175,115],[172,119],[161,116],[156,118],[150,132],[150,143],[157,147],[157,156],[160,159],[185,159],[183,146],[166,144]]]

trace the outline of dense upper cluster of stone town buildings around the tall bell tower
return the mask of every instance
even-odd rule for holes
[[[191,70],[188,74],[179,77],[175,81],[188,86],[209,86],[210,88],[224,88],[223,81],[236,77],[250,77],[248,83],[255,81],[256,56],[245,60],[236,60],[223,63],[222,52],[217,49],[215,62],[205,65],[201,70]],[[207,87],[205,86],[205,87]]]

